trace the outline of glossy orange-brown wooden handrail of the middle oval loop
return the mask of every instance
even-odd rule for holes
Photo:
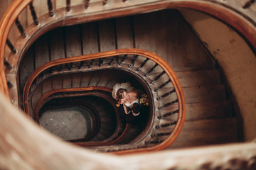
[[[164,149],[165,147],[168,147],[171,145],[172,142],[178,137],[179,132],[181,132],[181,128],[183,126],[183,123],[185,121],[185,112],[186,112],[186,107],[185,107],[185,99],[183,96],[183,91],[181,89],[181,85],[178,81],[178,78],[176,77],[174,71],[171,69],[169,64],[167,64],[161,57],[157,56],[156,54],[152,52],[148,52],[146,50],[139,50],[139,49],[122,49],[122,50],[112,50],[112,51],[107,51],[107,52],[98,52],[95,54],[90,54],[90,55],[81,55],[77,57],[69,57],[65,59],[59,59],[59,60],[54,60],[51,62],[48,62],[46,64],[43,64],[41,67],[36,69],[31,76],[28,78],[26,81],[26,84],[24,86],[23,90],[23,108],[24,111],[29,115],[28,111],[28,95],[29,91],[31,88],[31,85],[33,84],[33,81],[38,77],[41,72],[45,71],[46,69],[50,67],[55,67],[56,65],[59,64],[67,64],[70,62],[82,62],[85,60],[95,60],[95,59],[100,59],[104,57],[113,57],[117,55],[139,55],[142,57],[149,58],[149,60],[154,61],[156,64],[158,64],[162,69],[164,69],[164,72],[166,72],[167,76],[169,79],[171,79],[171,82],[174,85],[174,88],[176,89],[176,95],[178,98],[178,120],[176,123],[176,126],[174,130],[171,132],[171,135],[167,137],[164,142],[161,142],[159,145],[156,145],[155,147],[149,147],[149,148],[143,148],[143,149],[134,149],[134,150],[129,150],[129,152],[144,152],[144,151],[149,151],[149,150],[160,150]],[[127,151],[120,151],[120,153],[127,153]]]

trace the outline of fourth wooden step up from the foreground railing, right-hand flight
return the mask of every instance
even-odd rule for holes
[[[176,72],[176,76],[181,86],[206,86],[221,83],[218,69]]]

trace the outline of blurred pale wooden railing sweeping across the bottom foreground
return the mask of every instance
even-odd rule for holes
[[[256,169],[256,144],[176,149],[117,157],[60,141],[0,94],[1,169]]]

